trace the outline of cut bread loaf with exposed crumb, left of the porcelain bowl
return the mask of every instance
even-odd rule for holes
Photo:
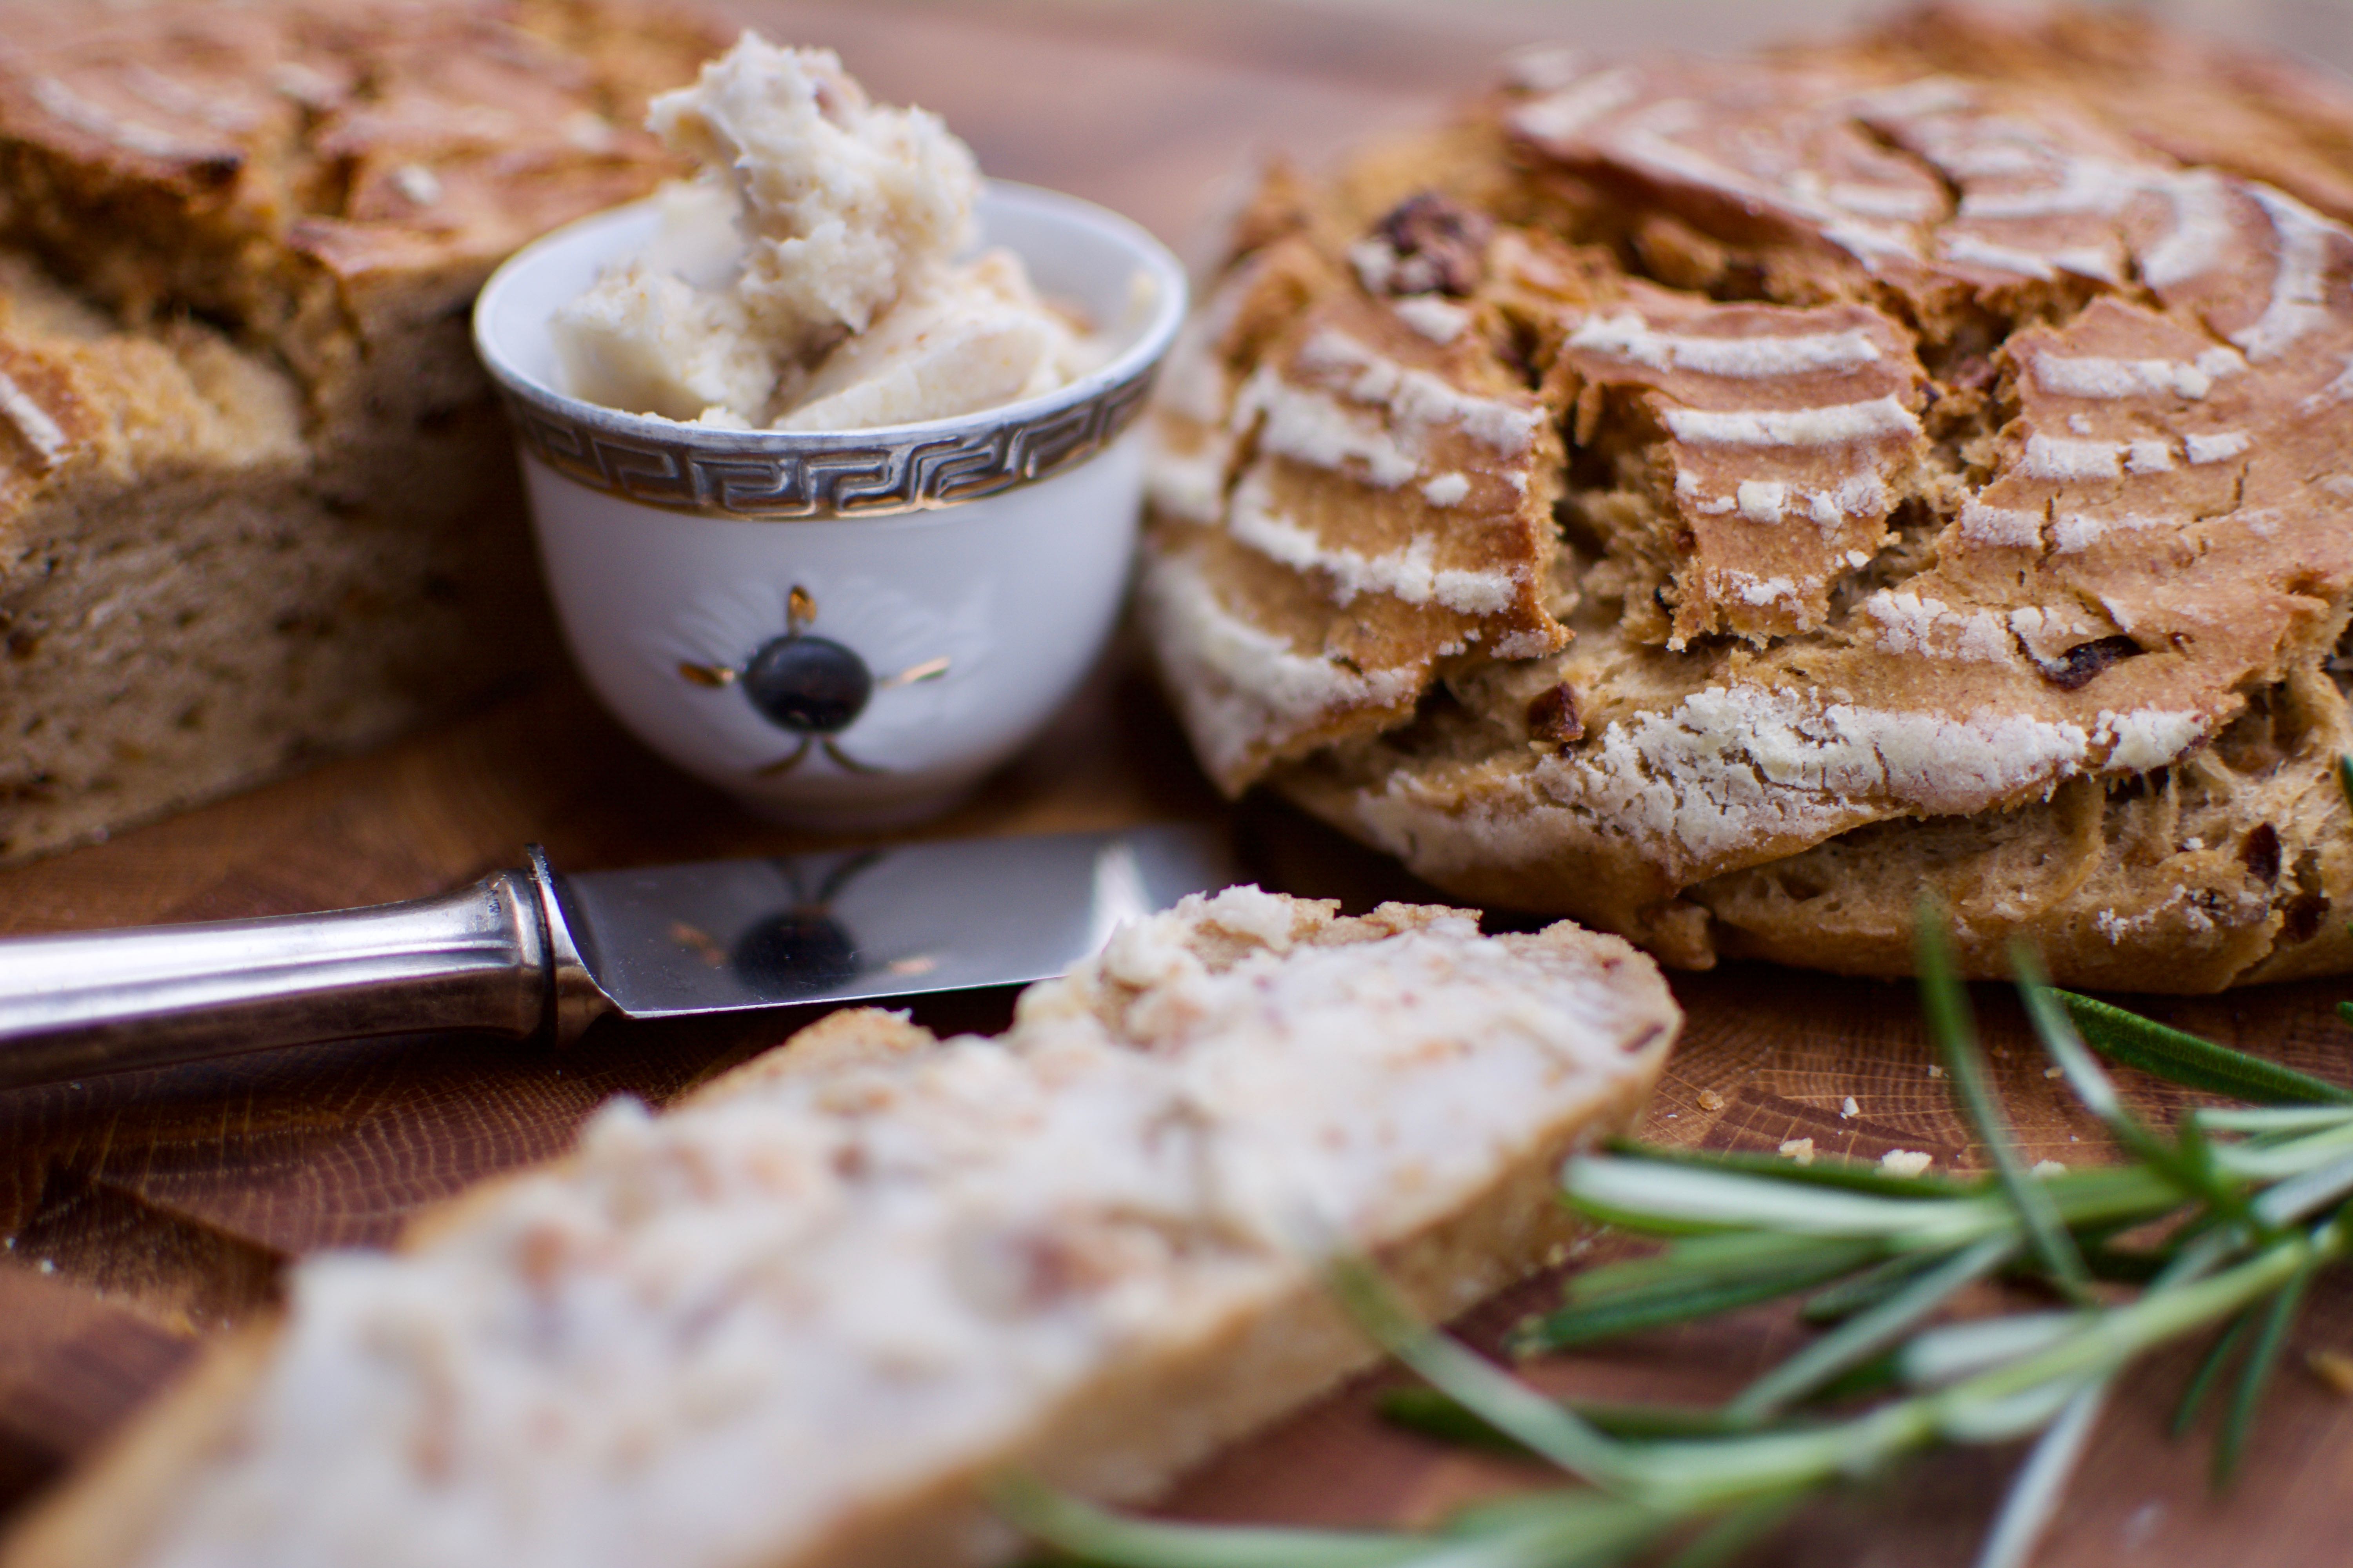
[[[466,310],[720,45],[593,0],[0,7],[0,860],[555,658]]]

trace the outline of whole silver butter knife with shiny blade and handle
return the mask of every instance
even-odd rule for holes
[[[365,910],[0,940],[0,1088],[320,1039],[565,1044],[607,1013],[1021,985],[1235,879],[1198,825],[569,875],[527,858]]]

